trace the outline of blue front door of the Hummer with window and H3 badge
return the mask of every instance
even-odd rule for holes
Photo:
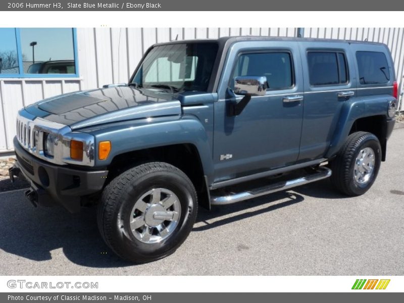
[[[298,45],[255,44],[235,43],[225,63],[215,103],[214,182],[293,165],[299,155],[304,95]],[[229,116],[227,104],[242,98],[229,93],[237,76],[266,76],[269,88]]]

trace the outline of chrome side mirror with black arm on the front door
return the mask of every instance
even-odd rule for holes
[[[269,87],[267,77],[244,76],[234,78],[234,90],[237,95],[244,95],[238,102],[231,102],[227,105],[228,116],[238,116],[251,100],[251,96],[264,96]]]

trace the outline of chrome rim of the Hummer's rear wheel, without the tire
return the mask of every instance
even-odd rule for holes
[[[375,169],[375,152],[370,147],[365,147],[359,151],[355,161],[354,178],[359,184],[367,183]]]

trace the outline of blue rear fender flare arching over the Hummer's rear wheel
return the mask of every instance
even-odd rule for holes
[[[385,116],[387,119],[387,107],[391,100],[394,100],[391,95],[363,96],[347,100],[342,106],[325,158],[331,158],[338,153],[357,119],[371,116]]]

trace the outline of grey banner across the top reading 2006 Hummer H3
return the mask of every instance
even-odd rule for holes
[[[6,0],[0,11],[403,11],[404,2],[396,0]],[[226,16],[228,18],[229,16]],[[341,15],[341,18],[343,16]]]

